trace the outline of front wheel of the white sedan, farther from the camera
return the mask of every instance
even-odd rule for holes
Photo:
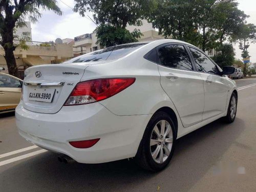
[[[230,97],[230,100],[229,100],[227,115],[224,117],[224,120],[227,123],[232,123],[234,121],[234,119],[236,118],[236,115],[237,115],[237,104],[238,104],[238,97],[233,92],[231,94],[231,97]]]

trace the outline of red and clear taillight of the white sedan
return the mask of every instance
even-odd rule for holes
[[[106,78],[79,82],[64,105],[101,101],[123,91],[134,82],[135,78]]]

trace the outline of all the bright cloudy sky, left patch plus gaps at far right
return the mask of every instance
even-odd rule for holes
[[[62,10],[62,16],[58,16],[51,11],[43,11],[42,17],[38,22],[31,24],[32,39],[34,41],[50,41],[56,38],[74,38],[76,36],[92,33],[96,25],[86,17],[74,13],[72,8],[75,5],[74,0],[57,0],[58,6]],[[238,0],[239,9],[243,10],[247,15],[247,23],[256,25],[256,1],[255,0]],[[88,12],[91,16],[91,13]],[[92,16],[91,16],[92,18]],[[236,49],[236,58],[241,59],[241,50],[238,45],[234,45]],[[256,44],[250,45],[249,55],[251,62],[256,62]]]

